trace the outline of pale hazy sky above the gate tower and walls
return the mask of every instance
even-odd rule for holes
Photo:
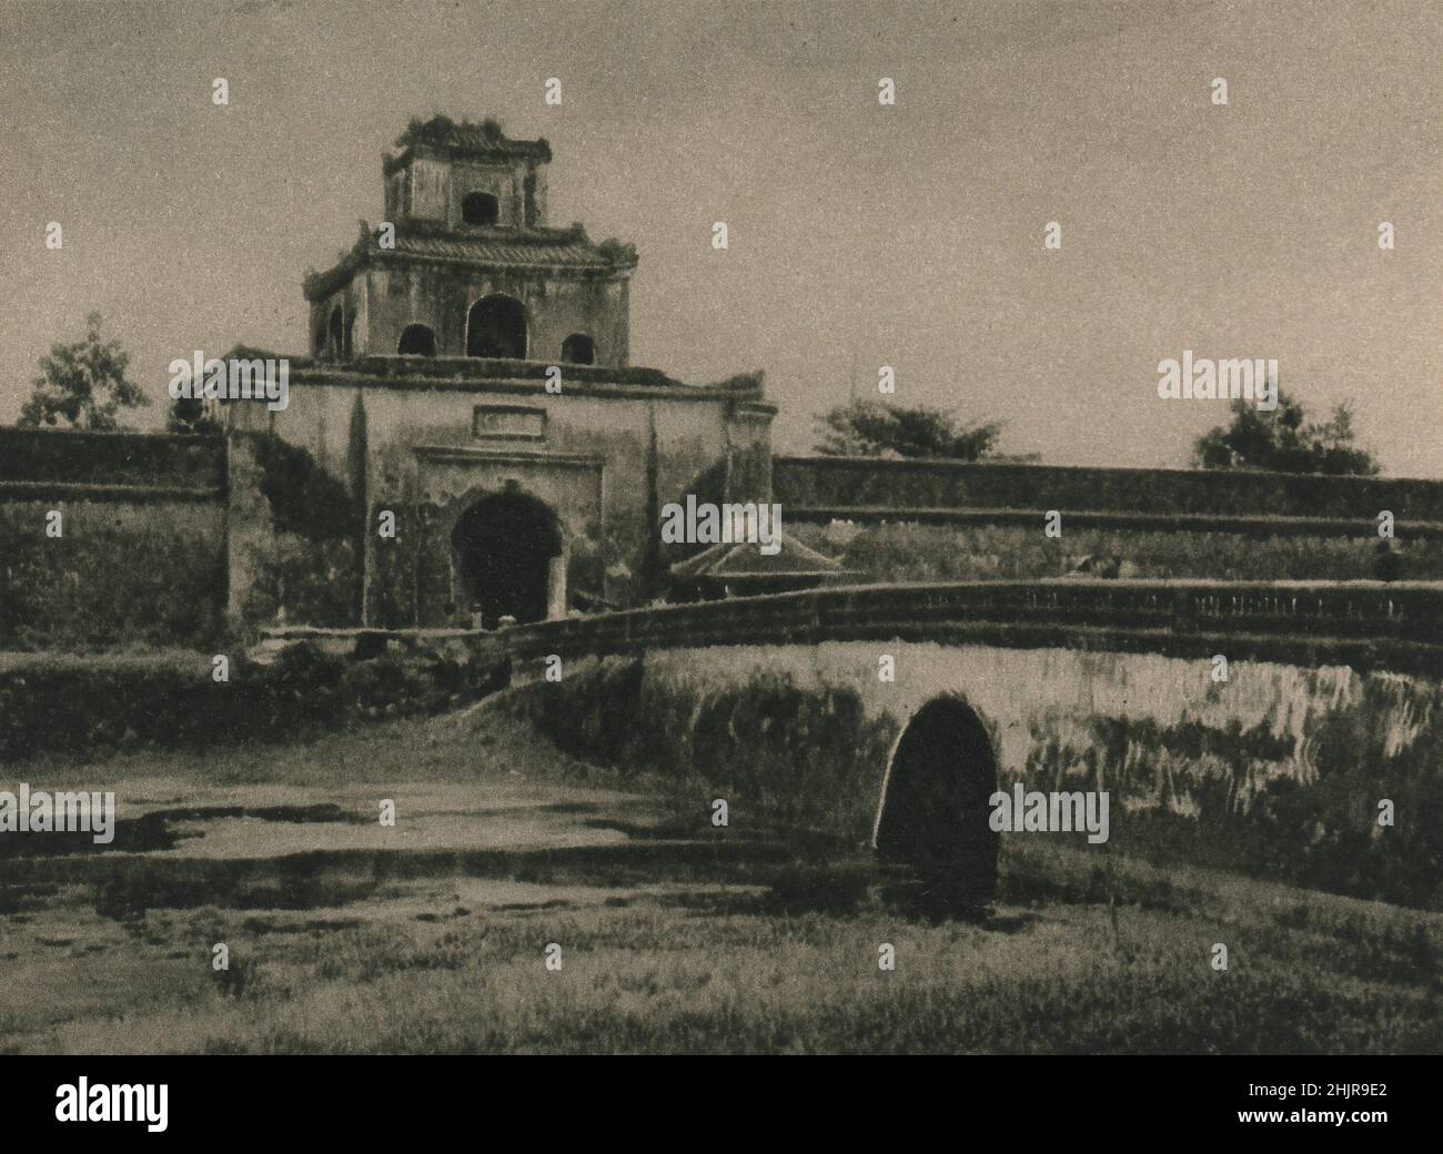
[[[306,268],[444,111],[550,138],[553,224],[641,251],[633,364],[765,369],[779,449],[892,365],[1004,450],[1185,464],[1227,417],[1157,397],[1189,348],[1277,358],[1390,473],[1443,476],[1440,58],[1436,0],[6,0],[0,421],[92,309],[150,423],[172,356],[304,352]]]

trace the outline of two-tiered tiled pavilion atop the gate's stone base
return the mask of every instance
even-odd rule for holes
[[[636,250],[547,226],[550,160],[494,120],[413,120],[384,160],[385,221],[306,277],[313,355],[625,366]]]

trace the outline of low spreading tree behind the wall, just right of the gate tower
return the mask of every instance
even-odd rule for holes
[[[947,457],[978,460],[993,452],[1001,424],[960,423],[941,408],[853,401],[820,414],[815,452],[834,457]]]

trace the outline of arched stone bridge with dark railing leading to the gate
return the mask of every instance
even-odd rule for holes
[[[560,743],[727,798],[733,827],[986,881],[994,792],[1105,792],[1105,842],[1030,837],[1430,904],[1440,610],[1433,583],[1062,578],[835,587],[468,638],[509,655],[508,700]]]

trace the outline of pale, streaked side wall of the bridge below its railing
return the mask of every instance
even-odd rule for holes
[[[879,679],[882,653],[895,684]],[[733,827],[863,844],[896,737],[957,695],[991,737],[1001,788],[1108,790],[1110,847],[1443,907],[1439,679],[1234,662],[1215,682],[1212,669],[1072,649],[719,646],[571,661],[517,707],[584,756],[726,796]],[[1392,827],[1378,824],[1384,799]]]

